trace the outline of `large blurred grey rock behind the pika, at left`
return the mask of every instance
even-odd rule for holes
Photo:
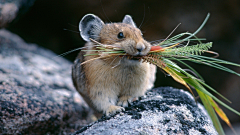
[[[91,112],[71,81],[71,63],[0,30],[0,134],[67,134]]]

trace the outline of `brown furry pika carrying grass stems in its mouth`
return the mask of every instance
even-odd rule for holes
[[[93,15],[85,15],[80,23],[81,37],[87,42],[87,50],[97,50],[96,43],[120,47],[128,55],[144,56],[151,44],[144,40],[131,16],[126,15],[120,23],[103,23]],[[95,115],[113,115],[124,110],[134,99],[143,96],[155,81],[156,66],[126,57],[96,59],[91,51],[80,51],[72,66],[72,80]]]

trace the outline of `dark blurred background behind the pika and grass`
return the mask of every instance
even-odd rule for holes
[[[129,14],[137,26],[141,24],[148,41],[166,38],[179,23],[181,25],[173,35],[194,32],[207,13],[211,13],[209,21],[197,36],[213,42],[211,50],[218,52],[220,59],[240,63],[240,2],[237,0],[36,0],[28,12],[7,29],[26,42],[62,54],[84,45],[78,33],[78,23],[88,13],[99,16],[104,22],[120,22],[124,15]],[[64,57],[73,61],[77,53]],[[202,65],[191,65],[210,86],[233,102],[233,108],[240,111],[240,77]],[[230,68],[240,72],[240,68]],[[185,89],[161,71],[157,73],[155,86]],[[223,110],[232,123],[240,122],[239,116]]]

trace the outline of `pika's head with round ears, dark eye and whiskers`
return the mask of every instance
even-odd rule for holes
[[[105,24],[99,17],[87,14],[80,21],[79,30],[87,42],[90,42],[91,38],[101,44],[117,46],[132,56],[146,55],[151,48],[129,15],[126,15],[121,23]]]

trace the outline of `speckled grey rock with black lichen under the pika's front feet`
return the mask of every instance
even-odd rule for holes
[[[75,135],[217,135],[202,105],[183,90],[160,87],[111,118],[102,117]]]

